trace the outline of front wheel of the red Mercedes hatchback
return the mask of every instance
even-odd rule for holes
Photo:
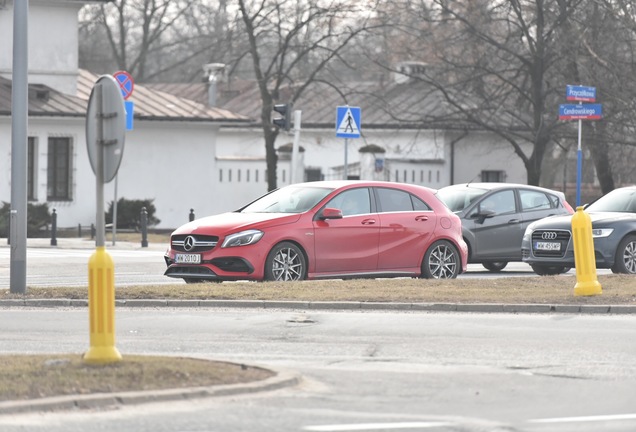
[[[303,280],[307,275],[305,254],[294,243],[282,242],[274,246],[265,260],[265,280]]]

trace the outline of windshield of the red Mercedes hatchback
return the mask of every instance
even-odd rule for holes
[[[311,186],[287,186],[264,195],[239,210],[241,213],[304,213],[333,189]]]

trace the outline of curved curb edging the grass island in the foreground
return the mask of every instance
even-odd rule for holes
[[[221,397],[248,393],[261,393],[300,384],[302,377],[291,371],[278,371],[275,376],[249,383],[209,387],[150,390],[88,395],[56,396],[42,399],[0,402],[0,415],[45,411],[105,408],[138,405],[152,402],[180,401],[204,397]]]

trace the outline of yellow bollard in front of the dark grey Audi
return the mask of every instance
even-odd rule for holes
[[[601,294],[601,284],[596,276],[592,221],[590,215],[583,211],[582,206],[577,207],[576,213],[572,216],[572,241],[574,242],[574,267],[576,268],[574,295]]]

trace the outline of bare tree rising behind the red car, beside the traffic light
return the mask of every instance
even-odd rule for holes
[[[238,0],[261,97],[267,185],[277,187],[276,102],[294,103],[356,37],[377,25],[372,2]]]

